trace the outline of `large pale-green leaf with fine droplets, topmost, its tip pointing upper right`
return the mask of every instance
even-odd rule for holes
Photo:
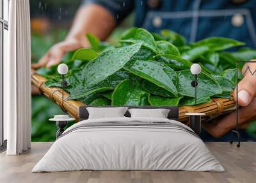
[[[90,61],[83,69],[84,83],[88,87],[95,86],[124,67],[132,56],[140,50],[141,44],[102,52],[97,58]]]

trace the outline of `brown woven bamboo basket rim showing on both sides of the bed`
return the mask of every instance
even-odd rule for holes
[[[85,106],[83,102],[76,100],[67,100],[69,94],[64,91],[64,102],[62,104],[62,90],[56,87],[46,87],[45,77],[42,77],[35,73],[35,70],[31,69],[31,83],[33,83],[40,92],[47,98],[51,99],[58,106],[67,112],[76,120],[79,120],[78,109],[80,106]],[[188,122],[189,117],[185,113],[205,113],[202,117],[203,121],[212,120],[220,115],[230,113],[236,109],[236,102],[234,99],[212,99],[212,102],[200,104],[197,106],[183,106],[179,107],[179,121]]]

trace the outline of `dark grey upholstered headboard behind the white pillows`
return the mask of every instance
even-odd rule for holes
[[[116,107],[116,106],[80,106],[79,107],[79,121],[87,120],[89,113],[86,107]],[[161,107],[154,107],[154,106],[127,106],[131,108],[140,108],[140,109],[170,109],[168,113],[168,119],[179,121],[179,107],[176,106],[161,106]],[[126,117],[131,117],[129,111],[125,113]]]

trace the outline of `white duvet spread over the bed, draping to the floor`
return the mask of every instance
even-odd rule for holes
[[[72,170],[224,171],[204,142],[176,127],[85,127],[93,122],[170,122],[163,118],[104,118],[84,120],[56,140],[32,172]],[[77,128],[77,129],[76,129]]]

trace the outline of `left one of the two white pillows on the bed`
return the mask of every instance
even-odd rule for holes
[[[96,118],[120,118],[125,117],[124,114],[128,107],[86,107],[89,113],[89,119]]]

